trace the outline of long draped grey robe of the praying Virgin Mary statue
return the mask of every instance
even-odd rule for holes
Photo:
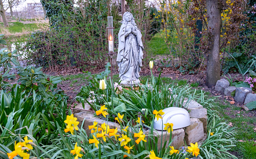
[[[116,62],[118,64],[119,78],[121,80],[136,80],[139,79],[139,72],[142,67],[143,59],[143,44],[142,34],[136,27],[137,35],[129,33],[125,37],[126,25],[122,25],[118,33],[118,54]]]

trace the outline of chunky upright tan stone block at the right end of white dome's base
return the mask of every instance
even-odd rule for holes
[[[202,142],[205,135],[202,122],[197,118],[190,118],[190,126],[185,128],[184,139],[186,144]]]

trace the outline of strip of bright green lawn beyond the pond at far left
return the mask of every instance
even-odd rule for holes
[[[32,32],[38,29],[36,23],[23,24],[21,22],[9,22],[9,28],[4,28],[3,23],[0,23],[0,32],[2,33],[16,33],[16,32]]]

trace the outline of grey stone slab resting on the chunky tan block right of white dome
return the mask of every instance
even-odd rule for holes
[[[203,132],[206,133],[206,127],[207,127],[207,109],[201,108],[201,109],[192,109],[189,112],[190,118],[198,118],[203,125]]]

